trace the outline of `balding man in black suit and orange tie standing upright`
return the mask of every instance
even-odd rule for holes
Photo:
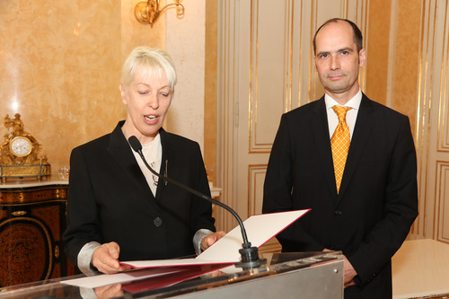
[[[362,45],[348,20],[315,33],[325,95],[282,116],[262,211],[312,208],[277,235],[282,251],[342,251],[345,298],[391,298],[391,258],[418,215],[416,152],[408,117],[361,92]]]

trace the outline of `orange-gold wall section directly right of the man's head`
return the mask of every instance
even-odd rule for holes
[[[407,115],[412,128],[418,114],[421,5],[420,0],[371,1],[365,39],[365,92]]]

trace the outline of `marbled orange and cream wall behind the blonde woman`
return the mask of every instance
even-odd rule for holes
[[[184,1],[180,20],[167,10],[153,28],[136,21],[138,2],[0,1],[0,138],[6,114],[20,113],[52,171],[67,165],[76,145],[126,117],[120,68],[148,45],[168,49],[180,75],[165,127],[203,146],[205,0]]]

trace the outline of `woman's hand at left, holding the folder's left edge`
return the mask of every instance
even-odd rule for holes
[[[130,269],[119,264],[120,247],[116,242],[104,243],[92,255],[92,265],[100,272],[114,274]]]

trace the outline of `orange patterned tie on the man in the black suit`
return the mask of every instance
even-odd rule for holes
[[[333,106],[332,109],[339,117],[339,125],[335,129],[332,138],[330,138],[330,145],[332,147],[332,158],[334,161],[335,181],[337,183],[337,192],[339,192],[339,185],[341,178],[343,178],[343,171],[345,171],[346,158],[348,157],[349,145],[351,138],[349,136],[349,127],[346,123],[346,112],[350,107]]]

